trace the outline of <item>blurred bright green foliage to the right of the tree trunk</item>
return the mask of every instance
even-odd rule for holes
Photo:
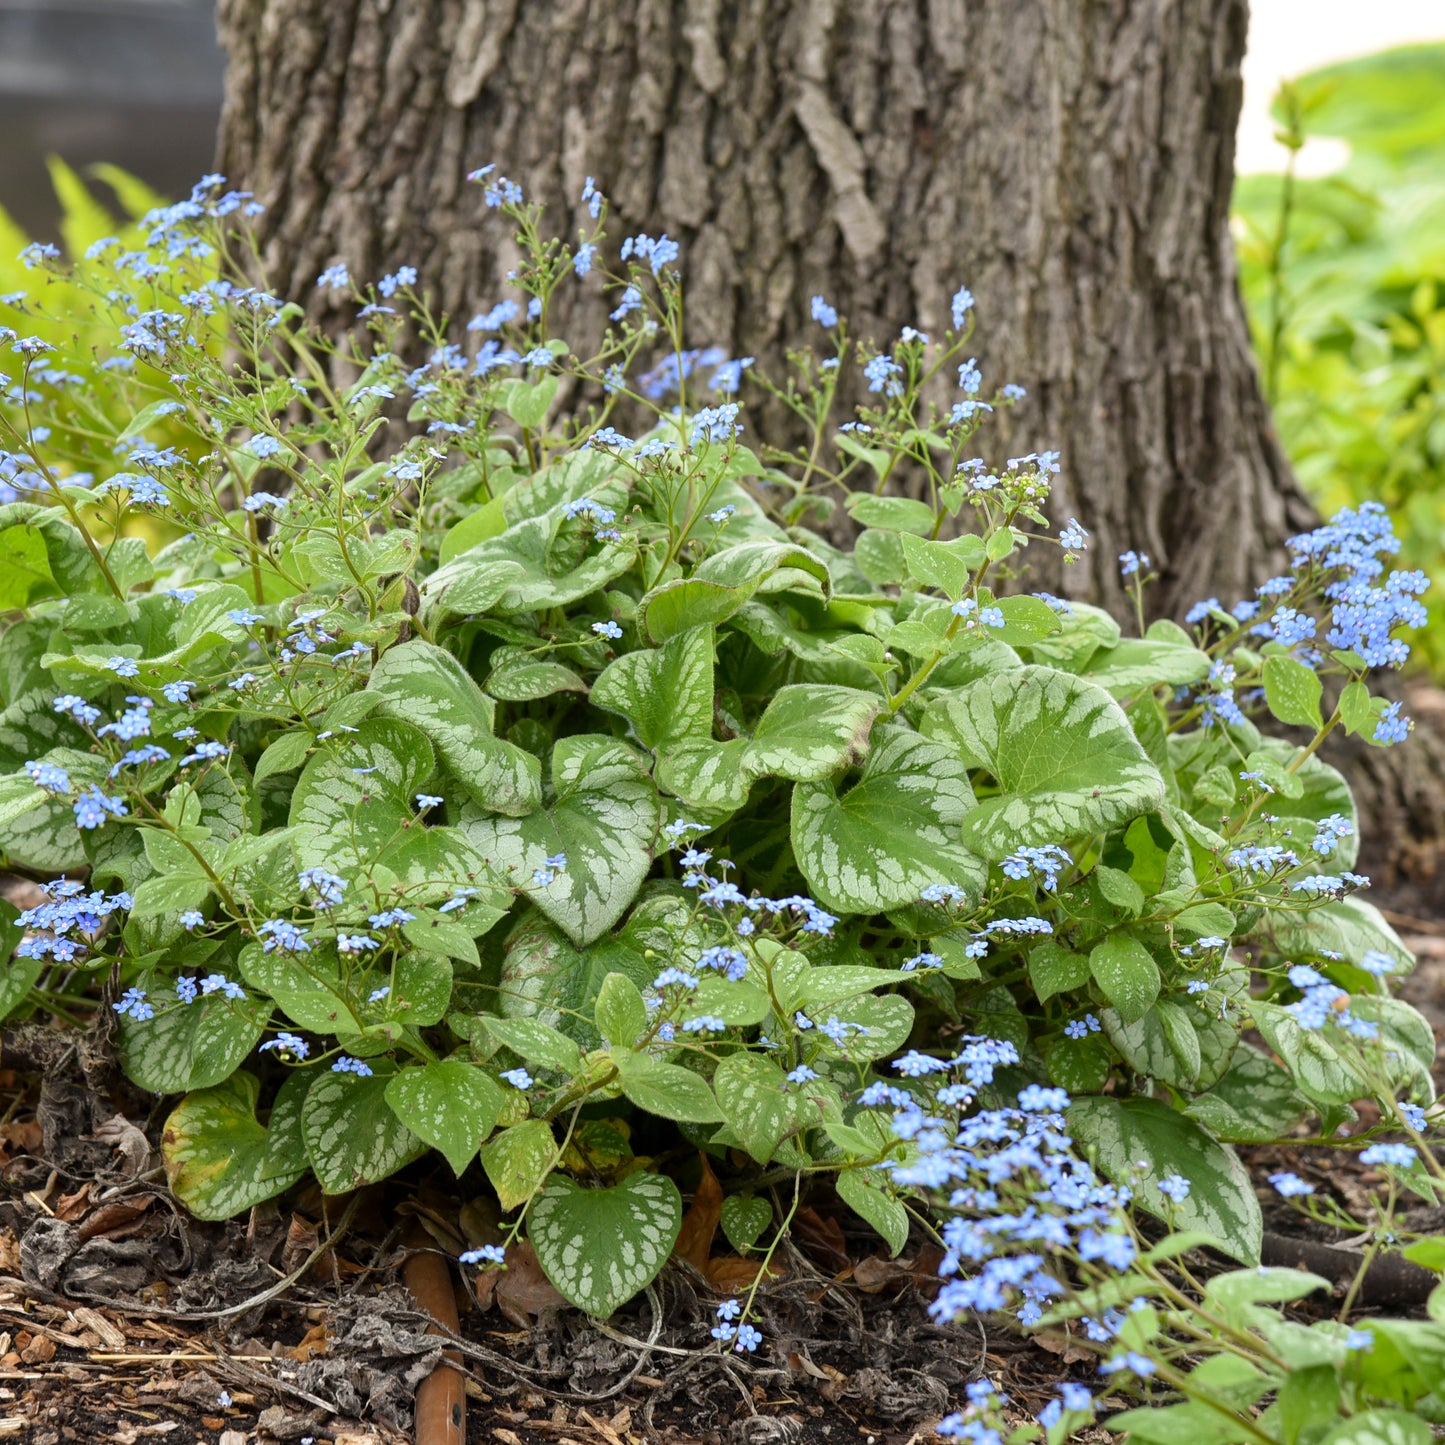
[[[1282,173],[1241,176],[1235,241],[1280,441],[1319,509],[1384,501],[1432,578],[1445,676],[1445,43],[1314,71],[1274,104]],[[1295,175],[1314,137],[1334,173]]]

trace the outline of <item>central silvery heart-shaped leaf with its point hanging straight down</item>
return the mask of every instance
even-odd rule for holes
[[[657,795],[631,750],[597,734],[558,741],[552,792],[526,818],[467,809],[460,827],[575,944],[590,944],[621,918],[647,876]],[[533,871],[558,853],[566,868],[533,887]]]

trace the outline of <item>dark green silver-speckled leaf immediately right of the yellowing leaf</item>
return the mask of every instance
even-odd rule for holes
[[[390,1069],[380,1062],[370,1078],[318,1074],[301,1108],[311,1168],[327,1194],[345,1194],[396,1173],[426,1152],[386,1101]]]

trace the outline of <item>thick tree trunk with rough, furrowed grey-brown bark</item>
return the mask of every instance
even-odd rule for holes
[[[1228,236],[1246,0],[220,0],[218,168],[257,192],[270,285],[418,267],[442,309],[501,298],[507,228],[468,171],[496,162],[613,243],[682,246],[694,344],[942,331],[977,296],[985,386],[1029,397],[1001,454],[1058,448],[1052,513],[1095,545],[1030,585],[1111,605],[1147,552],[1155,605],[1228,605],[1312,520],[1270,428]],[[588,285],[555,332],[601,334]],[[762,429],[762,428],[759,428]],[[1419,788],[1390,805],[1439,838]],[[1390,808],[1384,812],[1389,814]]]

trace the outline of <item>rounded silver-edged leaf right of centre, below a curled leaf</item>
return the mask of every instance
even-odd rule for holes
[[[958,838],[972,805],[961,760],[916,733],[887,728],[841,796],[832,782],[793,789],[793,854],[814,896],[837,912],[913,903],[941,880],[977,899],[987,868]]]

